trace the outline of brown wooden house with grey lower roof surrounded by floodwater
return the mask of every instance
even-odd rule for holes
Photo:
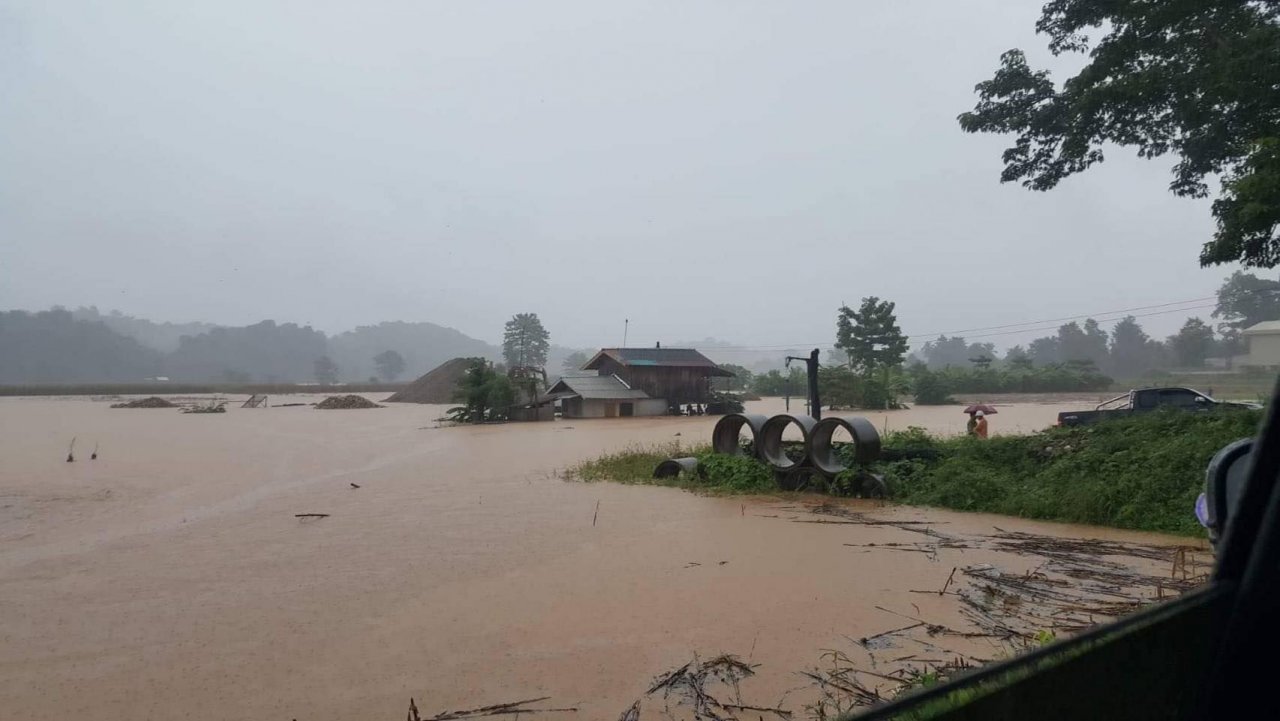
[[[733,374],[692,348],[603,348],[582,365],[595,375],[567,375],[547,397],[564,417],[663,415],[671,406],[710,401],[710,379]]]

